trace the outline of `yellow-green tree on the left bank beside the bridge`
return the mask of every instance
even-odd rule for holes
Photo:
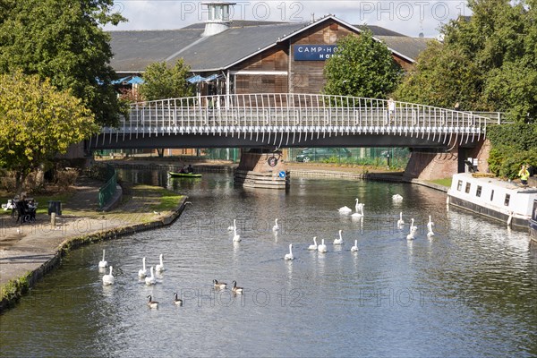
[[[15,173],[17,192],[32,170],[98,128],[69,90],[56,90],[38,75],[0,75],[0,166]]]

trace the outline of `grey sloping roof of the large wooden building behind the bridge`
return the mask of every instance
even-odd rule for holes
[[[179,30],[110,31],[115,72],[144,72],[149,64],[166,61],[175,64],[183,57],[192,72],[215,72],[272,47],[328,18],[360,30],[329,15],[315,22],[233,21],[230,28],[213,36],[201,37],[205,23]],[[409,38],[395,31],[368,26],[375,38],[384,41],[397,55],[410,61],[425,48],[423,38]]]

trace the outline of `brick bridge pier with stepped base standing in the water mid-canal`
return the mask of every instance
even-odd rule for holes
[[[239,166],[234,172],[234,183],[251,188],[288,188],[289,172],[282,153],[261,149],[243,151]]]

